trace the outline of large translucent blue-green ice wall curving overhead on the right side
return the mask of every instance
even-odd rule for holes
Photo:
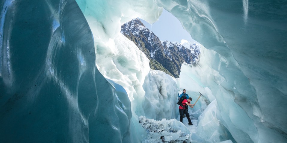
[[[287,1],[155,1],[206,47],[180,79],[210,89],[235,141],[286,142]]]

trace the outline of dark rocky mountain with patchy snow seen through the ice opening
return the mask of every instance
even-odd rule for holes
[[[183,62],[191,63],[197,58],[196,51],[199,48],[192,49],[194,53],[177,42],[161,42],[160,39],[148,28],[146,28],[140,19],[133,19],[122,25],[121,33],[133,41],[138,48],[143,51],[150,60],[149,66],[154,70],[161,70],[175,78],[179,77],[180,67]]]

